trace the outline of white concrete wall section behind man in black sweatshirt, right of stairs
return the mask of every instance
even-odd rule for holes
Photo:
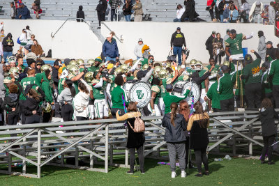
[[[254,37],[250,40],[243,41],[243,47],[248,50],[255,49],[259,38],[257,31],[264,31],[266,42],[273,41],[274,47],[278,44],[278,38],[274,36],[274,27],[262,24],[220,24],[220,23],[169,23],[169,22],[105,22],[116,36],[123,35],[123,43],[117,41],[121,58],[135,59],[133,50],[137,40],[142,38],[144,44],[149,45],[151,54],[156,61],[165,61],[170,50],[170,39],[176,27],[181,27],[181,31],[186,37],[186,45],[190,49],[189,59],[197,59],[203,63],[208,63],[209,52],[205,47],[206,39],[209,38],[212,31],[219,32],[221,37],[225,36],[227,29],[236,29],[238,33],[248,36],[252,31]],[[109,31],[105,26],[102,27],[101,33],[106,36]]]

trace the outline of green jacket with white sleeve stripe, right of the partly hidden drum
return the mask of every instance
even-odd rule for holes
[[[228,73],[225,73],[223,77],[220,77],[217,88],[220,100],[229,100],[234,98],[234,82],[235,79],[232,79],[232,75],[229,75]]]

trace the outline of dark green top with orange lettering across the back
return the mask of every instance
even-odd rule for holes
[[[241,79],[245,79],[245,84],[260,83],[262,76],[260,72],[261,59],[255,59],[252,63],[248,63],[243,69]]]

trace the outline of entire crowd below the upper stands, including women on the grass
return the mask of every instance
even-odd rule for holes
[[[18,38],[20,50],[17,54],[13,54],[13,36],[10,33],[5,36],[1,32],[1,124],[49,123],[53,116],[61,118],[61,121],[128,120],[127,148],[131,155],[128,173],[134,171],[135,149],[144,173],[144,133],[132,130],[135,117],[164,116],[162,126],[166,128],[165,141],[174,178],[176,153],[181,176],[186,176],[189,148],[195,150],[196,176],[209,175],[207,112],[260,109],[263,128],[268,121],[274,120],[276,114],[271,114],[271,110],[279,108],[279,50],[273,48],[271,41],[265,42],[262,31],[258,32],[258,52],[254,49],[250,51],[255,57],[250,54],[243,56],[242,41],[255,39],[252,33],[246,36],[229,29],[222,39],[220,33],[213,31],[206,41],[210,54],[207,66],[202,61],[188,59],[186,40],[179,27],[170,40],[174,55],[161,63],[155,61],[151,48],[144,44],[142,38],[134,50],[137,59],[121,63],[114,36],[114,32],[107,34],[102,54],[96,59],[56,59],[53,65],[46,65],[40,59],[42,49],[29,26],[22,30]],[[227,59],[222,63],[225,55]],[[27,66],[23,63],[24,59]],[[128,98],[128,90],[123,89],[124,84],[137,82],[151,87],[151,99],[140,111],[137,102]],[[185,93],[176,88],[176,84],[186,82],[193,82],[199,88],[199,100],[193,105],[191,114],[190,104],[185,101],[193,95],[191,86]],[[276,128],[273,125],[271,129],[267,127],[269,130],[263,130],[263,154],[268,152],[269,164],[273,164],[272,148],[269,146],[274,140]],[[261,160],[264,163],[264,156]]]

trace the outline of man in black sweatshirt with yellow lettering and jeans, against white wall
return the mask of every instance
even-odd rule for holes
[[[170,40],[170,47],[171,50],[174,50],[174,55],[179,56],[179,65],[181,65],[181,52],[182,52],[182,47],[186,48],[186,41],[185,41],[185,36],[181,32],[180,27],[177,27],[176,31],[172,33],[172,38]]]

